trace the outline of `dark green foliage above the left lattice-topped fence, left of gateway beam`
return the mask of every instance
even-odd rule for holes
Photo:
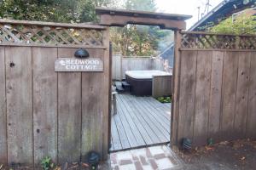
[[[0,17],[14,20],[53,22],[96,21],[95,7],[115,0],[3,0]]]

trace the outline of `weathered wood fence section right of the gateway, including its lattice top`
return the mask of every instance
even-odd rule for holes
[[[256,37],[177,32],[172,142],[256,139]]]

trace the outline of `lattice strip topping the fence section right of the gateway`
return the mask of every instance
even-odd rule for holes
[[[256,36],[236,36],[222,34],[182,33],[181,48],[256,49]]]

